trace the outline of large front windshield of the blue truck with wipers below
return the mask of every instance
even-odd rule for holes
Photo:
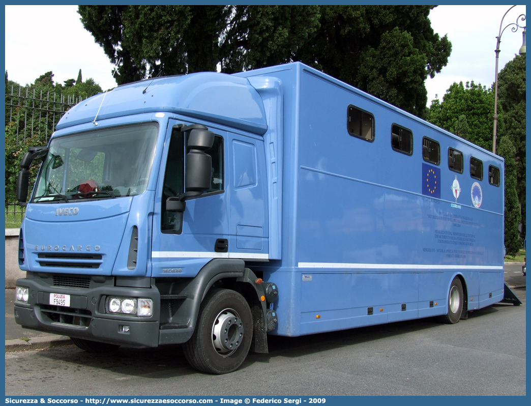
[[[145,123],[53,139],[32,202],[142,193],[148,185],[157,133],[157,123]]]

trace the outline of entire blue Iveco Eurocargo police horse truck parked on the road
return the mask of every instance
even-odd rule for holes
[[[507,292],[503,160],[301,63],[118,86],[21,168],[16,322],[87,351],[182,343],[222,374],[268,334]]]

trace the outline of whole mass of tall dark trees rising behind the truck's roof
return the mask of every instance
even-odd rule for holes
[[[451,43],[434,6],[234,5],[78,7],[119,84],[199,71],[234,73],[301,61],[424,117],[424,82]]]

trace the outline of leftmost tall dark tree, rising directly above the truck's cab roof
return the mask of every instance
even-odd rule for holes
[[[215,71],[226,6],[79,6],[83,27],[118,65],[118,84]],[[121,61],[119,64],[118,62]]]

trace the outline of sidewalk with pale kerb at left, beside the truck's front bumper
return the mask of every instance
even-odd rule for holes
[[[70,338],[22,328],[15,322],[13,302],[15,290],[5,290],[5,352],[42,350],[70,345]]]

